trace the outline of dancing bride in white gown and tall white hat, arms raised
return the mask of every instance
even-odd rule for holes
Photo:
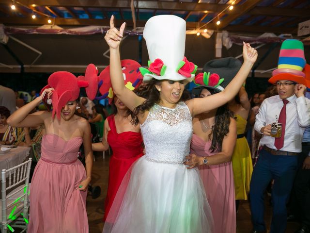
[[[103,232],[205,233],[213,220],[197,168],[185,161],[192,136],[192,117],[233,99],[257,59],[257,51],[243,46],[244,63],[220,93],[183,100],[185,85],[197,66],[184,57],[186,21],[173,15],[150,18],[143,31],[149,68],[141,68],[148,99],[124,86],[119,46],[125,24],[118,31],[113,16],[105,39],[110,49],[110,77],[116,96],[140,123],[146,154],[128,171],[112,204]]]

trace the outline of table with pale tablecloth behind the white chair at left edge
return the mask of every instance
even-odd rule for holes
[[[30,147],[16,147],[12,148],[6,153],[0,153],[0,171],[2,171],[2,169],[8,169],[13,166],[17,166],[24,162],[25,159],[29,156],[30,150]]]

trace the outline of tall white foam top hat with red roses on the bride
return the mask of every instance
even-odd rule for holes
[[[197,66],[184,56],[186,21],[173,15],[151,17],[145,24],[143,37],[150,61],[149,68],[140,68],[143,82],[158,80],[185,80],[191,82]]]

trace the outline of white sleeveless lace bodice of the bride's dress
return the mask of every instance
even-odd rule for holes
[[[183,163],[193,133],[192,117],[184,102],[174,109],[155,104],[141,125],[145,158],[159,163]]]

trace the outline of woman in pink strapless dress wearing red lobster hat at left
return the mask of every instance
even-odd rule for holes
[[[41,159],[31,181],[28,233],[88,233],[86,196],[93,166],[91,131],[88,121],[75,115],[75,111],[79,86],[88,86],[86,92],[89,97],[94,97],[96,82],[96,76],[79,82],[69,72],[55,72],[48,78],[49,85],[40,97],[8,118],[12,126],[44,124],[47,132],[42,139]],[[45,93],[52,100],[53,112],[29,114],[42,102]],[[82,143],[86,171],[78,160]]]

